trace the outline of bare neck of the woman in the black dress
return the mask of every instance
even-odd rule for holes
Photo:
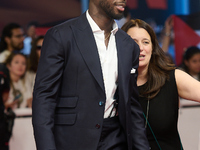
[[[137,86],[141,86],[147,82],[148,68],[138,68]]]

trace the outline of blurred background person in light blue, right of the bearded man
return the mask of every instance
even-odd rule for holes
[[[35,40],[35,38],[37,37],[36,27],[37,27],[37,22],[34,21],[30,22],[27,25],[26,37],[24,39],[24,48],[21,50],[21,52],[26,56],[30,55],[32,41]]]

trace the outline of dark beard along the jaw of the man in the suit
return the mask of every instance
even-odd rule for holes
[[[101,0],[100,1],[100,6],[105,11],[105,13],[112,19],[119,20],[119,19],[124,17],[124,12],[116,14],[113,11],[114,8],[112,8],[111,5],[108,2],[106,2],[106,0]]]

